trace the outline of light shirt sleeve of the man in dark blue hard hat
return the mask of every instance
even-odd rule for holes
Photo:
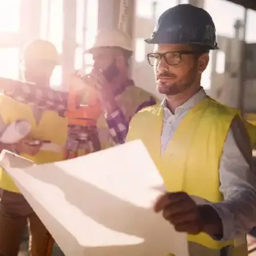
[[[240,118],[234,118],[227,134],[219,172],[224,201],[211,206],[223,224],[219,240],[233,240],[256,226],[256,174],[249,137]]]

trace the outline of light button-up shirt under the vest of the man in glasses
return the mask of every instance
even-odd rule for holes
[[[179,106],[174,114],[163,101],[162,154],[182,118],[205,97],[206,93],[201,89]],[[251,167],[252,153],[248,135],[240,128],[241,125],[237,125],[238,121],[232,122],[220,161],[220,191],[224,195],[224,201],[211,204],[222,220],[223,240],[239,238],[256,226],[256,174]],[[194,199],[197,203],[205,203],[203,199]]]

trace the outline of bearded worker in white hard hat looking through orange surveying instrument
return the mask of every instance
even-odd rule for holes
[[[86,53],[92,54],[94,65],[83,81],[96,91],[102,107],[97,123],[101,149],[124,143],[133,115],[156,103],[154,96],[136,87],[129,77],[132,40],[119,29],[102,28]]]

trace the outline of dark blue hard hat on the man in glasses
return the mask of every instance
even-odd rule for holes
[[[216,29],[202,8],[182,4],[166,10],[158,19],[148,44],[197,44],[218,50]]]

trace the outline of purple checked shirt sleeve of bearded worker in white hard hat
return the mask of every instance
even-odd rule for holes
[[[143,108],[151,105],[155,105],[156,100],[154,97],[150,97],[149,100],[144,101],[142,104],[138,106],[136,109],[135,115],[137,112],[142,110]],[[106,122],[108,123],[110,134],[112,139],[116,144],[123,144],[126,139],[126,135],[129,130],[129,123],[131,121],[132,116],[127,120],[122,112],[122,110],[119,108],[112,114],[106,116]]]

